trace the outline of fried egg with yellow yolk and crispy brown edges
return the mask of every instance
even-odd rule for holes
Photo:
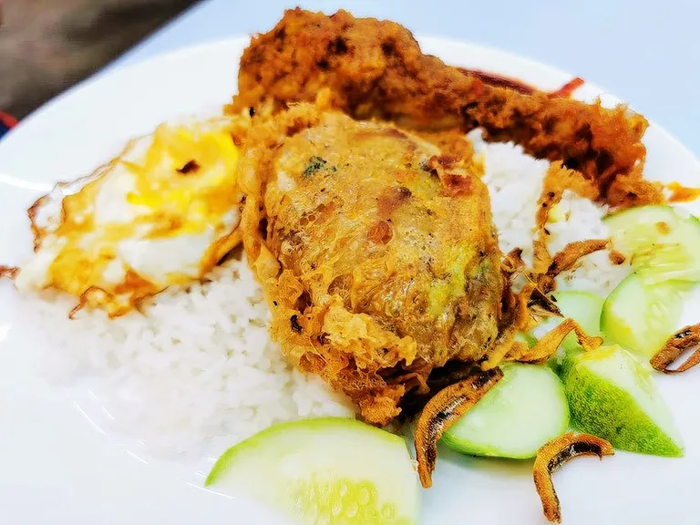
[[[247,121],[162,124],[29,209],[34,255],[19,290],[55,288],[110,316],[201,279],[241,240],[236,167]],[[72,314],[73,314],[72,313]]]

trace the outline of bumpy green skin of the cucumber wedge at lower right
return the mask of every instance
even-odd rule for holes
[[[565,386],[564,391],[571,412],[571,427],[607,439],[612,447],[621,450],[666,458],[682,458],[684,456],[683,448],[678,447],[672,439],[660,432],[643,430],[644,427],[647,429],[654,427],[655,423],[637,406],[633,396],[612,384],[609,384],[609,390],[603,393],[600,385],[595,385],[592,374],[581,375],[577,373],[577,365],[580,364],[573,357],[566,359],[561,367],[561,379]],[[619,396],[613,403],[610,402],[611,390],[616,396]],[[572,395],[573,392],[587,398],[588,402],[577,403],[576,398]],[[609,427],[602,426],[602,420],[599,417],[602,410],[607,410],[610,413],[610,418],[619,421],[631,419],[646,425],[626,426],[620,424],[611,430]],[[630,413],[631,410],[632,413]]]

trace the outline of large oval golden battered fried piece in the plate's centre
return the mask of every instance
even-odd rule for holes
[[[308,104],[264,118],[242,156],[242,229],[273,337],[385,425],[433,369],[479,362],[498,338],[504,281],[480,165]]]

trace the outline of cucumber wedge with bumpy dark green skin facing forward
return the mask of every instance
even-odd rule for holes
[[[568,355],[561,378],[573,427],[607,439],[614,448],[683,456],[683,440],[651,369],[620,346]]]

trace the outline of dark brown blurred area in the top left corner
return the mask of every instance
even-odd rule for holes
[[[25,117],[195,0],[0,0],[0,111]]]

